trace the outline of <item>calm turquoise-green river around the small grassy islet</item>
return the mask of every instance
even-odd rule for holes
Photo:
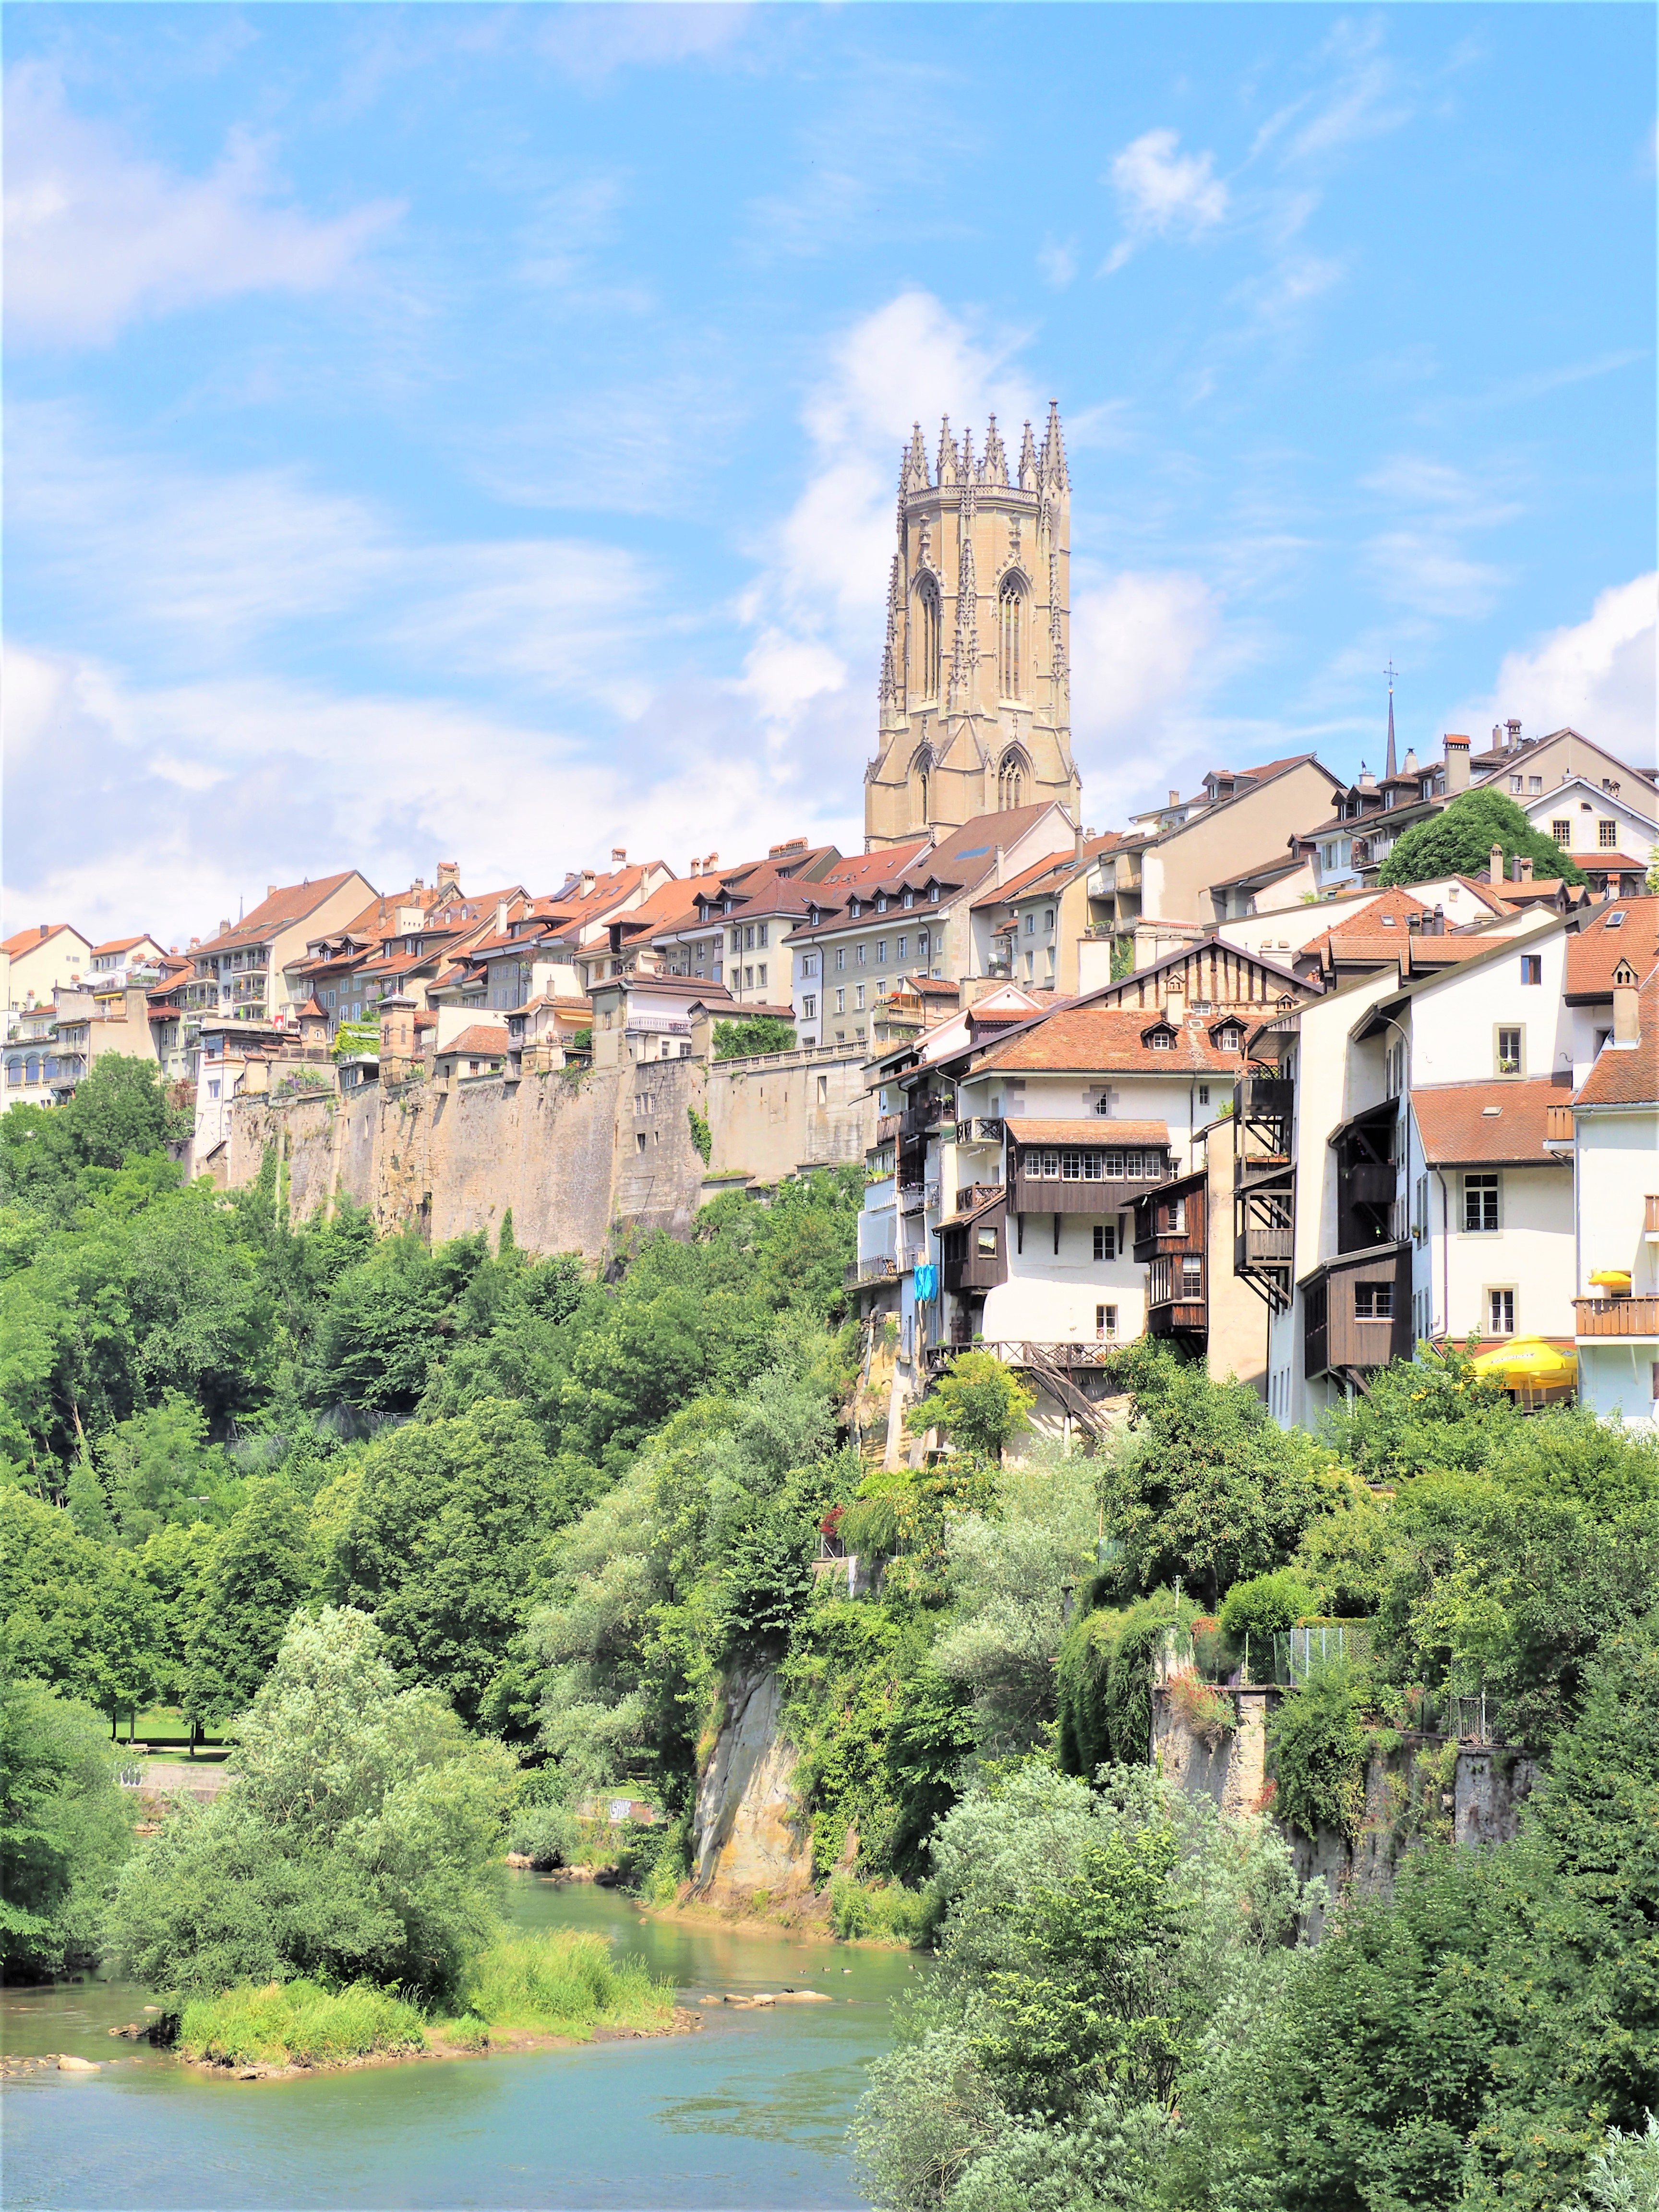
[[[144,1991],[75,1982],[0,1993],[11,2053],[102,2059],[4,2088],[4,2199],[22,2205],[241,2212],[549,2205],[604,2212],[860,2205],[845,2128],[902,1951],[653,1920],[615,1891],[509,1876],[513,1920],[588,1927],[668,1975],[699,2035],[414,2062],[294,2081],[228,2081],[111,2039]],[[823,1989],[834,2004],[757,2013],[708,1993]],[[137,2053],[137,2055],[133,2055]]]

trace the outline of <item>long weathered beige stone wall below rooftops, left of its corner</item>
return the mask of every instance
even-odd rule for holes
[[[688,1060],[453,1088],[378,1084],[345,1097],[250,1099],[232,1115],[230,1188],[276,1146],[296,1221],[347,1197],[383,1230],[418,1223],[434,1241],[487,1230],[511,1206],[531,1252],[599,1259],[628,1230],[690,1232],[703,1161],[686,1108],[701,1102]]]

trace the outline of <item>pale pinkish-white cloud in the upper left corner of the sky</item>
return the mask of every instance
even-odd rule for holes
[[[104,345],[142,314],[237,292],[332,285],[403,212],[374,201],[316,221],[274,204],[265,146],[232,131],[181,177],[73,115],[44,62],[7,73],[7,323],[13,338]]]

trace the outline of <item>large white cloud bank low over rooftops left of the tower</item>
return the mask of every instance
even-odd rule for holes
[[[661,757],[648,723],[595,759],[584,737],[453,699],[270,677],[142,688],[13,646],[13,823],[60,823],[73,790],[75,836],[13,827],[7,914],[184,942],[268,883],[336,867],[387,889],[431,880],[445,854],[471,889],[544,891],[613,845],[677,874],[692,852],[765,852],[779,823],[856,849],[858,823],[832,812],[856,787],[768,761],[734,730],[730,686],[675,695]]]

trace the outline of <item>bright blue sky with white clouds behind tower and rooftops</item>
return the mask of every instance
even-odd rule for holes
[[[1060,400],[1088,827],[1655,745],[1655,11],[4,11],[4,927],[863,843],[900,447]],[[1314,827],[1314,825],[1307,825]]]

